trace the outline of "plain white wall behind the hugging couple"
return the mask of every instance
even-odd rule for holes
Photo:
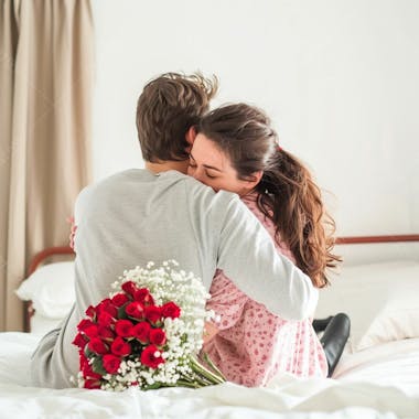
[[[141,166],[135,111],[168,71],[271,116],[331,191],[340,235],[419,232],[419,2],[93,0],[95,179]],[[162,12],[164,10],[164,12]]]

